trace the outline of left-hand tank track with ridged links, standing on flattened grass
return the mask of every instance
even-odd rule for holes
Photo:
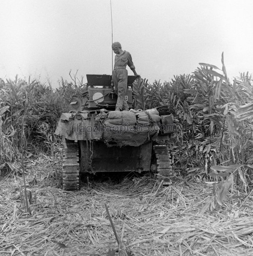
[[[79,189],[79,148],[78,143],[66,140],[62,164],[63,189],[68,191]]]

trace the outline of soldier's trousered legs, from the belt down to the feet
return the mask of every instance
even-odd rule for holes
[[[114,85],[115,92],[118,95],[116,108],[119,108],[120,110],[128,110],[129,107],[125,99],[125,94],[127,89],[127,70],[126,69],[113,70],[113,85]]]

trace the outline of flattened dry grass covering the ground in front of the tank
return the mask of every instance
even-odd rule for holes
[[[45,157],[31,161],[27,174],[31,215],[20,200],[22,178],[0,179],[0,256],[108,255],[118,244],[105,203],[121,255],[253,255],[251,197],[240,209],[234,199],[199,214],[212,193],[201,181],[161,187],[145,176],[67,192],[60,189],[60,160]]]

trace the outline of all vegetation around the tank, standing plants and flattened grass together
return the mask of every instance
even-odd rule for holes
[[[83,78],[70,74],[55,89],[18,75],[0,79],[0,255],[239,255],[252,248],[253,77],[240,73],[231,81],[223,54],[220,65],[199,63],[192,74],[133,85],[135,108],[169,105],[174,116],[172,186],[126,176],[122,183],[90,181],[76,194],[61,190],[62,141],[54,131],[71,96],[84,90]],[[119,251],[104,202],[121,230]],[[85,248],[80,237],[89,241]]]

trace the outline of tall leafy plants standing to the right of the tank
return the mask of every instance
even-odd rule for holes
[[[175,76],[170,82],[145,82],[138,94],[142,99],[136,100],[145,106],[170,106],[178,127],[171,151],[174,170],[220,182],[223,190],[210,207],[221,203],[234,181],[245,193],[252,189],[253,79],[241,73],[230,82],[223,54],[221,68],[199,65],[192,75]],[[134,91],[140,85],[136,83]]]

